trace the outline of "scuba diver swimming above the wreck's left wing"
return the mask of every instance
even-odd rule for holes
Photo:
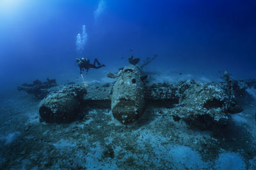
[[[93,68],[93,69],[99,69],[100,67],[104,67],[105,65],[104,64],[100,64],[99,60],[97,59],[94,59],[94,62],[93,64],[90,63],[90,60],[89,59],[86,59],[86,58],[81,58],[81,59],[76,59],[76,62],[80,68],[80,73],[82,74],[84,69],[86,69],[86,74],[88,73],[88,70],[90,68]],[[96,63],[98,66],[96,66]]]

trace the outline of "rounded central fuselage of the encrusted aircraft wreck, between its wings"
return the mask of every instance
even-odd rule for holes
[[[123,124],[134,122],[145,110],[145,83],[143,80],[147,78],[147,75],[143,76],[142,68],[156,56],[154,55],[141,66],[137,66],[140,59],[133,59],[132,55],[128,59],[129,66],[120,69],[116,75],[108,73],[109,78],[116,78],[111,97],[112,114]]]

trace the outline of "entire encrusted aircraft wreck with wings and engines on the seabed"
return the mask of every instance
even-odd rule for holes
[[[52,91],[40,103],[41,120],[68,123],[76,120],[83,108],[103,107],[111,108],[113,117],[127,125],[136,122],[145,110],[163,108],[163,113],[157,114],[182,119],[200,129],[212,129],[227,125],[228,113],[243,111],[235,96],[243,91],[239,85],[246,84],[232,80],[227,72],[223,82],[186,80],[148,85],[142,68],[155,58],[156,55],[138,65],[140,59],[130,57],[129,66],[119,69],[117,74],[108,73],[109,78],[116,79],[113,84],[66,85],[62,90]]]

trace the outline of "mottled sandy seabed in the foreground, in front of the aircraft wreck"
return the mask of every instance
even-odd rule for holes
[[[46,124],[39,103],[25,93],[1,99],[0,169],[256,169],[253,101],[211,131],[160,106],[147,106],[127,126],[108,107],[86,107],[71,124]]]

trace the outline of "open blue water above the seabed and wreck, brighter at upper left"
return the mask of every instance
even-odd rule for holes
[[[76,57],[95,57],[106,74],[127,58],[158,55],[148,66],[218,78],[256,75],[256,2],[3,0],[0,3],[1,91],[35,79],[75,80]],[[97,10],[98,9],[98,10]],[[97,14],[96,14],[97,13]],[[77,51],[77,34],[88,39]],[[132,52],[130,51],[132,49]],[[124,59],[122,59],[124,57]]]

